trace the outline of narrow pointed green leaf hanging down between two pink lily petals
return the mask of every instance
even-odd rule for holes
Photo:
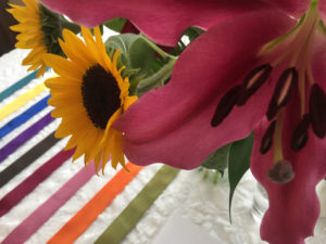
[[[231,221],[231,201],[237,184],[241,180],[244,172],[250,168],[250,157],[253,145],[253,133],[248,138],[236,141],[231,144],[229,151],[228,163],[228,180],[229,180],[229,220]]]

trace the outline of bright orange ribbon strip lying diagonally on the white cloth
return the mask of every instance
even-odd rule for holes
[[[48,244],[73,243],[100,215],[115,196],[138,175],[142,167],[128,164],[127,172],[121,169],[68,222],[66,222]],[[110,242],[108,242],[110,243]],[[111,244],[111,243],[110,243]]]

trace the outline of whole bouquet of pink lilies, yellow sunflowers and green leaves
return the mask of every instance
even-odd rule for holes
[[[250,167],[269,201],[262,240],[313,234],[326,176],[326,1],[24,3],[8,10],[16,47],[32,49],[29,69],[58,74],[49,104],[74,159],[228,168],[230,198]],[[106,28],[116,35],[104,40]]]

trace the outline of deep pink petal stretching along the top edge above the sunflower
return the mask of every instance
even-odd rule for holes
[[[114,17],[126,17],[155,42],[172,47],[189,26],[208,29],[228,17],[268,8],[268,3],[261,0],[41,0],[41,2],[85,26],[96,26]],[[275,2],[276,5],[279,3],[281,0]]]

